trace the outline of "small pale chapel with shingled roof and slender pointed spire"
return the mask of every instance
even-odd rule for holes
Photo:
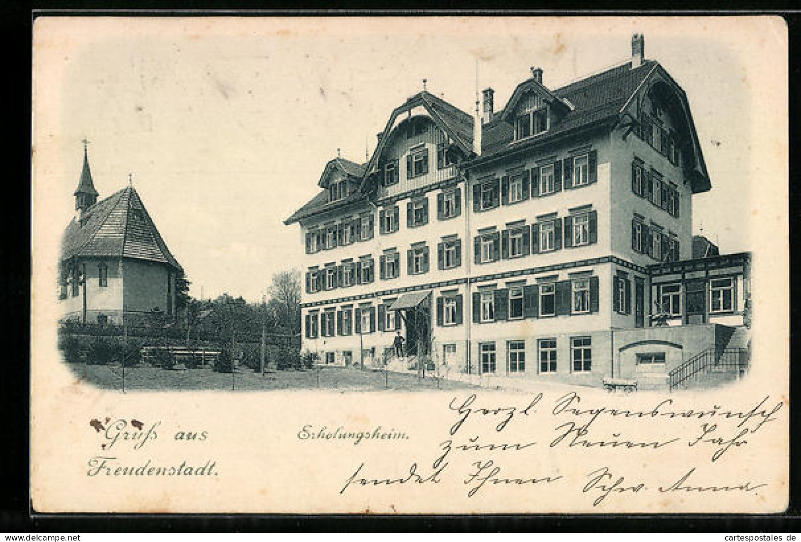
[[[58,300],[63,320],[138,324],[175,319],[183,269],[129,185],[98,201],[84,148],[75,216],[62,237]]]

